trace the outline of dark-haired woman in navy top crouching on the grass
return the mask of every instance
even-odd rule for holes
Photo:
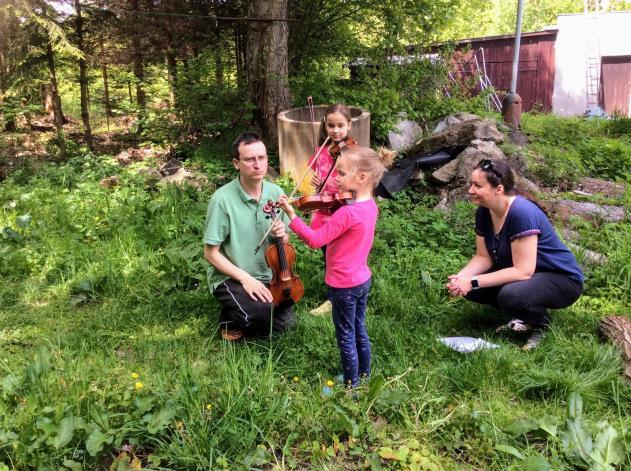
[[[515,193],[513,172],[502,160],[482,160],[471,173],[476,253],[447,288],[454,296],[490,304],[512,319],[500,330],[532,331],[523,348],[536,347],[550,324],[548,308],[573,304],[583,272],[545,213]]]

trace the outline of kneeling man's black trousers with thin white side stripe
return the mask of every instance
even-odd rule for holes
[[[222,329],[238,329],[247,335],[267,336],[279,333],[296,325],[293,301],[276,307],[272,303],[254,301],[238,281],[222,282],[213,296],[221,304],[219,325]]]

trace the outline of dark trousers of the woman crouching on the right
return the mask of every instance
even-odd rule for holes
[[[550,324],[548,308],[568,307],[579,298],[583,285],[563,273],[537,272],[528,280],[469,291],[469,301],[490,304],[510,317],[535,328]]]

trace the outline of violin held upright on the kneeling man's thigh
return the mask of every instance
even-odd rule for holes
[[[280,205],[268,200],[263,207],[263,212],[275,221],[280,212]],[[300,301],[305,293],[305,287],[300,277],[293,272],[296,261],[294,246],[276,237],[274,243],[265,250],[265,261],[272,269],[269,290],[272,293],[274,306],[290,300],[294,303]]]

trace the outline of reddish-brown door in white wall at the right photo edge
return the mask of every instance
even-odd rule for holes
[[[631,116],[631,56],[603,57],[602,81],[605,111]]]

